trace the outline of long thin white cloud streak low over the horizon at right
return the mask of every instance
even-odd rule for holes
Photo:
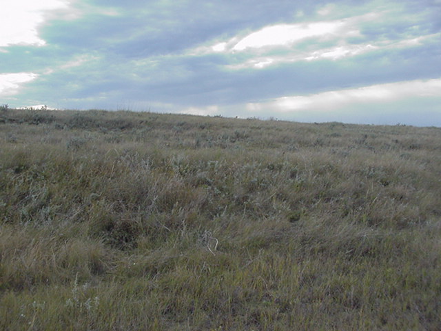
[[[441,97],[441,79],[402,81],[363,88],[336,90],[293,97],[280,97],[263,103],[248,103],[247,110],[336,110],[348,105],[388,103],[408,98]]]

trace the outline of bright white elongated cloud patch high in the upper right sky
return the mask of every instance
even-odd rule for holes
[[[437,42],[441,36],[441,33],[421,33],[415,25],[418,23],[413,22],[416,17],[398,15],[397,18],[396,11],[381,9],[333,21],[266,26],[245,36],[238,34],[227,41],[217,40],[211,45],[194,48],[187,54],[232,54],[226,69],[262,69],[297,61],[336,61],[368,52],[418,47]],[[323,16],[336,11],[335,6],[318,10]],[[364,32],[366,26],[382,26],[381,22],[391,20],[410,20],[413,32],[407,30],[393,39],[386,39],[384,34],[369,35]]]

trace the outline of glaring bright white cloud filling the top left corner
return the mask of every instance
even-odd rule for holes
[[[25,44],[43,46],[37,28],[45,12],[67,8],[65,0],[3,0],[0,12],[0,47]]]

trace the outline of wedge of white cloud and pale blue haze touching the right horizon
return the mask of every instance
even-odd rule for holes
[[[401,81],[269,101],[225,106],[189,107],[178,112],[204,116],[295,121],[440,126],[441,78]]]

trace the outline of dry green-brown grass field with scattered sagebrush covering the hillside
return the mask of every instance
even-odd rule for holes
[[[441,129],[0,111],[0,330],[440,330]]]

